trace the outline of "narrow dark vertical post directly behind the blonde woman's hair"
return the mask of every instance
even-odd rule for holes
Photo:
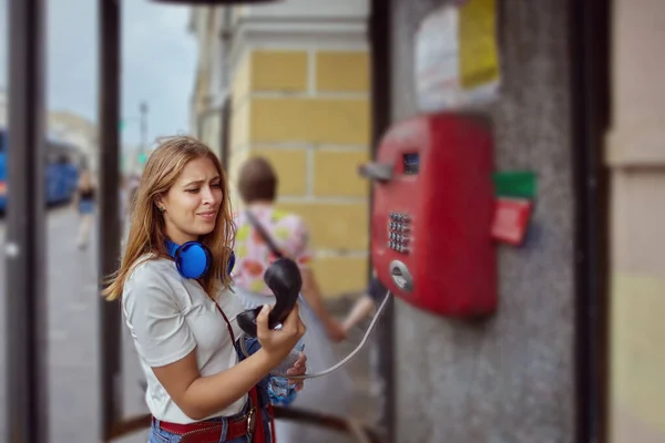
[[[101,281],[117,269],[120,257],[120,0],[99,0],[100,23],[100,251]],[[100,395],[102,441],[122,419],[121,312],[100,298]]]

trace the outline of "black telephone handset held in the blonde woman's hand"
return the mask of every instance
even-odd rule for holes
[[[303,289],[303,277],[298,265],[290,258],[282,257],[268,266],[264,275],[264,281],[275,295],[275,306],[268,315],[268,328],[275,327],[288,317],[298,301],[298,295]],[[249,309],[238,315],[238,326],[252,338],[256,337],[256,318],[262,307]]]

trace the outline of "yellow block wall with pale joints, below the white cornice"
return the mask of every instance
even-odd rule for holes
[[[253,155],[279,175],[278,206],[300,215],[326,297],[365,289],[369,183],[367,51],[249,50],[233,79],[229,176]]]

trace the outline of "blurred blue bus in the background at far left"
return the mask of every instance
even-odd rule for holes
[[[4,212],[9,192],[7,187],[7,131],[0,128],[0,212]],[[70,144],[49,140],[45,161],[45,203],[55,205],[70,202],[79,181],[79,169],[82,164],[80,153]]]

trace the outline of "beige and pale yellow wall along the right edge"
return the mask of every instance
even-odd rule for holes
[[[611,442],[665,442],[665,2],[612,4]]]

